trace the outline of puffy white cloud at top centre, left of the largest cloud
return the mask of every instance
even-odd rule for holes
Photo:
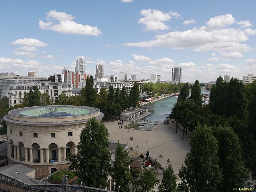
[[[165,30],[169,29],[169,25],[165,25],[164,21],[169,21],[171,16],[169,13],[164,13],[156,9],[143,9],[140,14],[144,16],[138,20],[138,23],[145,24],[145,31],[150,30]]]

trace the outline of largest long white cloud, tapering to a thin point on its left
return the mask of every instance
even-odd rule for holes
[[[170,47],[173,49],[194,48],[195,52],[226,51],[245,52],[251,48],[240,44],[248,40],[247,34],[241,28],[224,28],[235,22],[232,15],[226,14],[211,18],[207,26],[192,28],[186,31],[173,31],[156,35],[155,40],[136,43],[124,43],[126,46],[137,47]],[[256,33],[255,33],[256,34]]]

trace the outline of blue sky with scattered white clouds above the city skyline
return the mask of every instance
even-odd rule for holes
[[[256,1],[0,1],[0,72],[75,69],[182,82],[256,75]]]

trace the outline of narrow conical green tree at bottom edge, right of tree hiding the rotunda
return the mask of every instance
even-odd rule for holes
[[[128,152],[123,148],[123,146],[118,141],[116,147],[115,160],[113,162],[111,177],[115,181],[115,191],[129,192],[129,184],[131,183],[131,174],[129,170],[129,165],[132,163],[133,159],[128,156]]]

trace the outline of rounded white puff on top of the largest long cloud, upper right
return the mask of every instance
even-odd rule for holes
[[[231,14],[226,14],[211,18],[206,25],[210,28],[222,29],[233,23],[235,23],[235,18]]]

